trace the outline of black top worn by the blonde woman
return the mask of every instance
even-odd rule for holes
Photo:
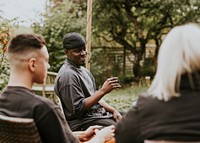
[[[117,123],[116,142],[200,141],[199,111],[199,91],[185,91],[168,102],[140,96],[137,105]]]

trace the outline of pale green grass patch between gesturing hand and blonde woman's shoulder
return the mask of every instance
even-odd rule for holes
[[[120,89],[113,90],[107,94],[103,99],[115,107],[118,111],[127,111],[133,102],[137,100],[140,93],[144,92],[147,86],[129,86]]]

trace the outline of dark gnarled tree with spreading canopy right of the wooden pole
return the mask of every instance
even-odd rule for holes
[[[187,22],[199,22],[198,0],[96,0],[93,35],[115,41],[131,51],[133,74],[140,78],[146,45],[154,40],[156,54],[163,34]]]

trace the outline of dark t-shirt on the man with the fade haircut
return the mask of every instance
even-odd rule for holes
[[[5,88],[0,95],[0,114],[33,118],[44,143],[78,143],[60,108],[27,88]]]

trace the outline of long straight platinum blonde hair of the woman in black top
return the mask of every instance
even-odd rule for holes
[[[156,75],[147,95],[164,101],[178,97],[181,75],[199,69],[200,27],[194,23],[176,26],[160,46]]]

